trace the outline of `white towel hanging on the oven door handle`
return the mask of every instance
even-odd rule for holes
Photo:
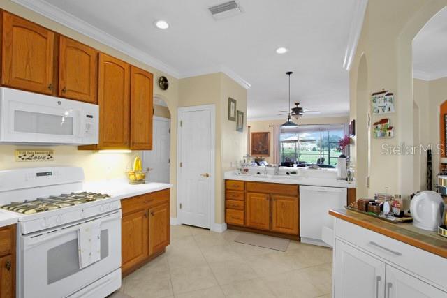
[[[79,268],[101,259],[101,220],[87,221],[78,229]]]

